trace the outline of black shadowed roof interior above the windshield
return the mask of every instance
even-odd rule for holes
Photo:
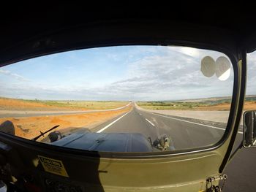
[[[101,5],[61,2],[3,7],[8,13],[0,13],[0,66],[63,50],[155,44],[167,38],[216,43],[233,52],[245,49],[249,53],[256,49],[255,17],[250,10],[253,6],[244,11],[241,4],[226,7],[217,1],[179,5],[108,2]],[[88,32],[90,28],[98,32]]]

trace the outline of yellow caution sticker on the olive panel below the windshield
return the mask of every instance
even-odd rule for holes
[[[37,156],[43,168],[45,169],[45,172],[50,172],[53,174],[59,174],[64,177],[69,177],[62,161],[53,158],[47,158],[41,155]]]

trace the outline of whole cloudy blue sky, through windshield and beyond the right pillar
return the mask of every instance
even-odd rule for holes
[[[225,81],[200,72],[207,55],[216,61],[224,54],[189,47],[120,46],[47,55],[1,67],[0,96],[134,101],[231,96],[233,72]],[[250,57],[256,69],[256,56]]]

